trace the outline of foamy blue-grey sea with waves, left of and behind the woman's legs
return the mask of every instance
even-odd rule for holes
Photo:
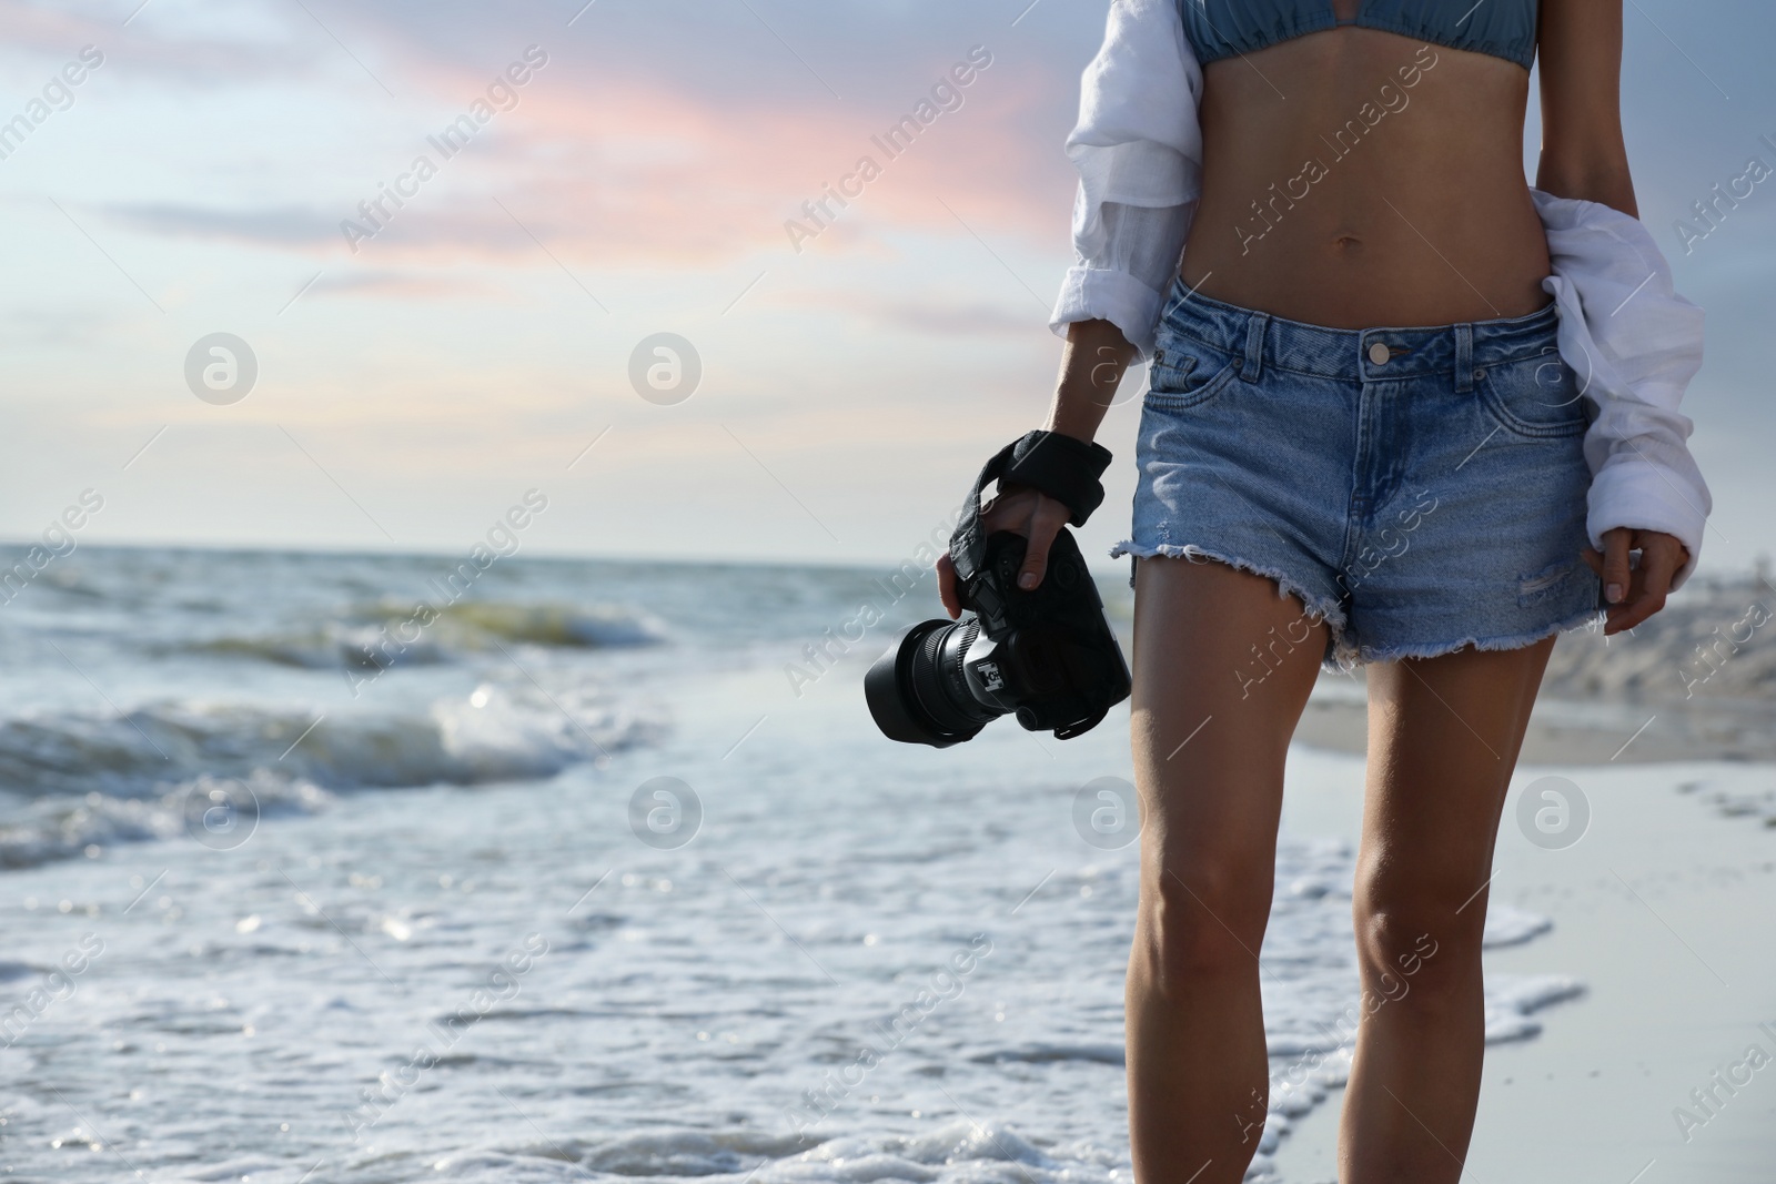
[[[14,549],[0,563],[25,561]],[[1130,1180],[1126,705],[874,728],[927,572],[80,547],[0,591],[0,1175]],[[1126,634],[1126,580],[1105,580]],[[1291,783],[1350,779],[1298,747]],[[1250,1179],[1336,1104],[1284,833]],[[1488,943],[1549,920],[1497,904]],[[1487,982],[1490,1040],[1584,985]]]

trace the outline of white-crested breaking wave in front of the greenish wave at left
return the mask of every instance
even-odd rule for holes
[[[316,722],[318,721],[318,722]],[[549,777],[645,744],[659,724],[577,687],[483,682],[414,712],[170,699],[123,715],[39,712],[0,721],[0,788],[30,797],[147,797],[199,776],[279,770],[330,790]]]

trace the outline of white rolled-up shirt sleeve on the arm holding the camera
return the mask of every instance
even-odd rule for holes
[[[1146,359],[1202,181],[1202,69],[1176,0],[1112,0],[1067,156],[1080,172],[1074,266],[1050,328],[1106,320]]]

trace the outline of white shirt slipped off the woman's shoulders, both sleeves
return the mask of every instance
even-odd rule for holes
[[[1050,328],[1106,320],[1153,351],[1167,289],[1202,195],[1202,67],[1177,0],[1112,0],[1103,48],[1085,67],[1080,122],[1067,156],[1080,172],[1074,266]],[[1664,531],[1689,549],[1673,577],[1696,570],[1714,508],[1678,412],[1701,367],[1701,309],[1677,295],[1652,233],[1609,206],[1531,188],[1559,312],[1559,355],[1579,375],[1597,419],[1584,437],[1591,469],[1586,531]]]

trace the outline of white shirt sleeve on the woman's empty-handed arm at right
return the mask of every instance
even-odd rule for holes
[[[1671,264],[1639,218],[1529,193],[1549,240],[1554,273],[1542,288],[1559,305],[1559,353],[1597,405],[1584,435],[1586,533],[1598,549],[1614,527],[1675,534],[1689,549],[1677,588],[1696,568],[1714,508],[1689,454],[1691,421],[1678,412],[1701,367],[1701,309],[1677,295]]]

